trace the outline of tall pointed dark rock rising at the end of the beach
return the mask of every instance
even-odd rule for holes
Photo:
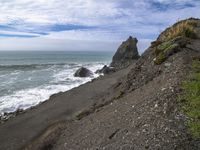
[[[137,49],[137,42],[138,40],[131,36],[123,42],[113,56],[110,66],[115,69],[121,69],[137,60],[140,57]]]

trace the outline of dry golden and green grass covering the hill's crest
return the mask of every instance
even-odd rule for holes
[[[183,48],[183,43],[186,45],[188,41],[187,38],[197,38],[197,31],[195,29],[197,24],[198,23],[196,20],[189,19],[180,21],[166,30],[164,39],[162,41],[155,41],[152,43],[152,46],[155,47],[154,52],[156,55],[154,63],[156,65],[162,64],[170,55]],[[177,42],[177,39],[182,39],[182,44]]]

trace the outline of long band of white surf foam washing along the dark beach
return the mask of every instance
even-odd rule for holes
[[[47,100],[50,95],[54,93],[70,90],[90,80],[91,78],[79,80],[79,82],[71,85],[51,85],[46,87],[41,86],[37,88],[17,91],[12,95],[1,97],[0,114],[2,115],[5,112],[14,112],[17,109],[25,110]]]

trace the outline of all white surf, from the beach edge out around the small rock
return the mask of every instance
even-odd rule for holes
[[[70,90],[92,80],[95,77],[98,77],[97,74],[88,78],[74,77],[74,72],[80,66],[81,65],[75,65],[74,68],[71,69],[67,69],[69,66],[66,66],[59,71],[56,70],[53,75],[53,80],[47,85],[15,91],[11,95],[0,97],[0,115],[3,115],[4,113],[11,113],[18,109],[25,110],[32,106],[36,106],[49,99],[49,97],[54,93]],[[95,72],[97,69],[102,68],[103,64],[93,63],[85,64],[85,66]],[[31,80],[31,77],[29,77],[28,80]]]

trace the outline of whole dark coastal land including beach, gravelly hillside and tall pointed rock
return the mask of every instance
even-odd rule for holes
[[[199,43],[194,18],[166,29],[141,56],[130,37],[117,51],[130,53],[113,57],[118,71],[0,125],[0,149],[200,149]]]

